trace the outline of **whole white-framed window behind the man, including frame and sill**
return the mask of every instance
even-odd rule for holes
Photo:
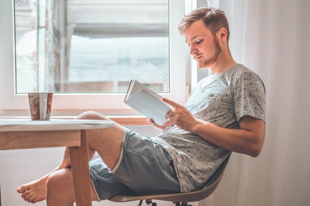
[[[181,0],[1,1],[0,109],[28,109],[35,91],[53,109],[129,109],[131,79],[184,103],[183,15]]]

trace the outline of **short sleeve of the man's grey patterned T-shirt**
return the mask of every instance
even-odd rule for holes
[[[245,72],[234,85],[235,112],[238,122],[245,115],[266,121],[265,87],[254,72]]]

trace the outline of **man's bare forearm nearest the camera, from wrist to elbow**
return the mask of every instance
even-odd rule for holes
[[[193,132],[218,147],[251,156],[258,156],[263,145],[255,131],[223,128],[203,120],[198,120]]]

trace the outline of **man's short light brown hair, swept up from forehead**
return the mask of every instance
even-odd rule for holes
[[[211,31],[213,36],[221,29],[227,30],[227,45],[229,40],[229,25],[225,12],[220,9],[212,7],[200,7],[193,10],[191,13],[182,18],[179,24],[179,32],[181,35],[185,34],[186,29],[195,21],[203,20],[206,27]]]

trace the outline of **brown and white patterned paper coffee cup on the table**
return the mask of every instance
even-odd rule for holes
[[[31,120],[50,120],[53,93],[28,93]]]

